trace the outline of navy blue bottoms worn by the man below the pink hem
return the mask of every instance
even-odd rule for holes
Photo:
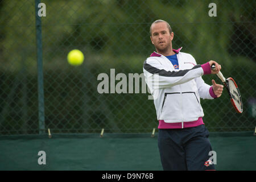
[[[204,125],[185,129],[159,129],[158,147],[163,169],[213,170],[214,164],[207,165],[212,146],[209,131]]]

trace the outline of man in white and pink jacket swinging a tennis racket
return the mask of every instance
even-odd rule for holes
[[[220,97],[223,85],[214,80],[212,86],[205,84],[201,76],[218,73],[221,65],[212,60],[199,65],[192,55],[180,52],[181,48],[172,49],[174,32],[164,20],[151,24],[150,38],[156,52],[144,61],[143,72],[159,121],[158,147],[163,169],[214,169],[208,162],[212,147],[200,98]],[[210,69],[213,63],[214,70]]]

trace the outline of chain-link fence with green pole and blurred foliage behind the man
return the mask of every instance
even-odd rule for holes
[[[242,114],[225,90],[221,98],[201,100],[208,129],[254,130],[255,1],[0,0],[0,134],[157,128],[148,93],[129,86],[127,93],[110,93],[111,80],[121,81],[118,73],[127,76],[122,80],[127,85],[129,73],[143,73],[143,62],[154,51],[149,28],[156,19],[171,24],[174,48],[183,47],[197,64],[218,61],[224,76],[240,86]],[[72,49],[84,53],[80,67],[67,62]],[[109,76],[109,93],[98,92],[100,73]],[[220,83],[213,75],[203,78]]]

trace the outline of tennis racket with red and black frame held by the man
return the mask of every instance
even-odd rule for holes
[[[212,64],[211,68],[215,69],[215,64]],[[222,83],[225,85],[225,88],[229,93],[229,98],[232,102],[234,109],[237,111],[237,113],[242,113],[243,112],[242,97],[234,79],[231,77],[225,78],[221,72],[218,72],[216,75],[218,76],[218,78],[220,78]]]

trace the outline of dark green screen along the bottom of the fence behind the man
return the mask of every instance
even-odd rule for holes
[[[210,133],[217,170],[256,170],[252,132]],[[39,151],[46,164],[39,165]],[[55,134],[0,137],[0,170],[162,171],[157,133]]]

